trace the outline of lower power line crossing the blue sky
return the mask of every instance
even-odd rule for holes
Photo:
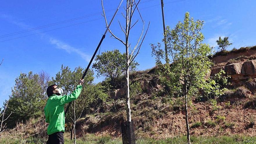
[[[149,1],[153,1],[153,0],[149,0]],[[175,2],[180,2],[180,1],[186,1],[186,0],[172,1],[172,2],[167,2],[167,3],[164,3],[164,4],[175,3]],[[157,4],[157,5],[154,5],[154,6],[159,6],[159,5],[161,5],[161,4]],[[146,9],[146,8],[151,8],[151,7],[154,7],[154,6],[149,6],[149,7],[141,8],[141,10],[142,9]],[[117,15],[120,15],[120,13],[117,14]],[[111,17],[111,16],[108,16],[108,17]],[[103,19],[103,18],[93,19],[93,20],[86,21],[86,22],[92,22],[92,21],[99,20],[99,19]],[[77,24],[71,24],[71,25],[68,25],[68,26],[63,26],[63,27],[56,28],[56,29],[51,29],[51,30],[48,30],[48,31],[54,31],[54,30],[57,30],[57,29],[62,29],[62,28],[66,28],[66,27],[70,27],[70,26],[74,26],[74,25],[78,25],[78,24],[83,24],[83,23],[86,23],[86,22],[80,22],[80,23],[77,23]],[[12,39],[8,39],[8,40],[3,40],[3,41],[0,41],[0,42],[6,42],[6,41],[9,41],[9,40],[15,40],[15,39],[18,39],[18,38],[24,38],[24,37],[27,37],[27,36],[36,35],[36,34],[40,34],[40,33],[45,33],[45,32],[48,32],[48,31],[42,31],[42,32],[39,32],[39,33],[30,34],[30,35],[24,35],[24,36],[21,36],[21,37],[12,38]]]

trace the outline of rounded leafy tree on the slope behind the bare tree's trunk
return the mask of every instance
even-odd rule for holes
[[[102,52],[101,55],[95,58],[97,63],[93,64],[93,68],[97,72],[97,77],[104,76],[110,78],[110,84],[114,86],[116,78],[125,73],[125,58],[125,53],[121,54],[118,49]],[[136,70],[136,66],[138,65],[136,61],[131,62],[129,66],[130,71]]]

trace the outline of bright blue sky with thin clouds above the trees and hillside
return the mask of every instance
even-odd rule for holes
[[[119,2],[119,0],[104,0],[105,10],[115,9]],[[194,19],[205,21],[202,30],[205,35],[204,42],[211,46],[216,46],[219,36],[230,37],[233,45],[228,49],[256,45],[256,1],[254,0],[164,0],[164,3],[166,3],[164,5],[166,25],[175,26],[179,20],[183,20],[184,14],[189,12]],[[139,5],[146,24],[149,21],[151,24],[141,52],[136,58],[140,63],[138,70],[151,68],[155,64],[154,58],[151,57],[149,44],[161,42],[163,38],[161,5],[159,4],[160,0],[141,0]],[[125,5],[125,2],[122,5]],[[86,67],[105,31],[103,17],[95,14],[102,11],[100,0],[13,0],[2,1],[0,7],[0,35],[8,36],[6,34],[13,33],[8,37],[0,36],[0,59],[4,58],[0,66],[0,104],[11,94],[15,78],[20,72],[38,73],[43,70],[52,77],[60,70],[62,64],[71,67],[72,70],[79,65]],[[120,31],[117,20],[119,19],[124,24],[124,19],[120,15],[123,11],[120,9],[119,15],[115,17],[111,25],[113,33],[121,39],[124,35]],[[109,21],[113,13],[114,10],[106,13],[110,16]],[[82,17],[90,14],[95,15]],[[26,33],[15,33],[77,17],[82,18]],[[139,19],[138,15],[134,17],[134,21],[137,19]],[[132,44],[135,43],[140,31],[141,24],[138,24],[130,35]],[[102,43],[101,52],[112,49],[124,52],[124,46],[109,36],[108,33]],[[95,79],[95,82],[103,79]]]

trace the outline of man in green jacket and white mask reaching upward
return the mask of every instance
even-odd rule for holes
[[[44,108],[45,122],[49,123],[47,128],[47,144],[64,144],[65,113],[64,105],[77,99],[82,90],[83,79],[79,80],[77,88],[69,95],[61,95],[63,90],[53,84],[47,88],[49,97]]]

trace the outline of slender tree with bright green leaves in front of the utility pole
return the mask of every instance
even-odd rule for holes
[[[215,81],[207,79],[212,65],[208,56],[211,54],[209,45],[202,43],[204,35],[200,32],[203,21],[194,21],[187,12],[183,22],[178,22],[174,29],[166,28],[168,57],[171,64],[163,64],[166,59],[161,44],[151,44],[152,55],[156,57],[156,65],[161,82],[170,88],[170,97],[182,97],[185,103],[185,119],[187,141],[190,144],[188,121],[188,104],[193,97],[199,96],[199,90],[210,90],[214,93]],[[217,88],[218,89],[218,88]],[[222,90],[216,90],[221,94]]]

